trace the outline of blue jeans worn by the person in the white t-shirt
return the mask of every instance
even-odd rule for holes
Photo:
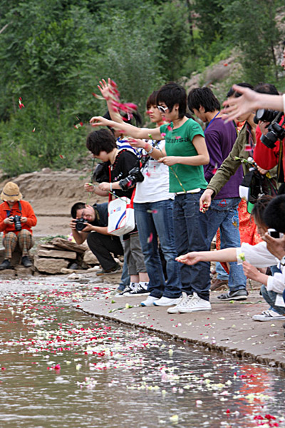
[[[177,251],[173,231],[173,200],[134,203],[134,208],[140,245],[150,277],[147,290],[153,297],[180,297],[180,270],[179,263],[175,261]],[[157,236],[166,261],[167,282],[162,270]]]

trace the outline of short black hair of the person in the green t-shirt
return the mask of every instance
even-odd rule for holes
[[[169,111],[178,104],[178,118],[182,119],[186,113],[187,94],[185,88],[178,83],[170,82],[163,85],[157,93],[157,103],[165,103]]]

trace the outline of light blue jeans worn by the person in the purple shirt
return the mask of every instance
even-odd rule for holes
[[[211,243],[219,228],[221,233],[221,250],[223,248],[240,247],[239,214],[237,207],[240,198],[226,198],[212,200],[209,209],[208,238]],[[237,262],[229,263],[229,290],[244,290],[247,277],[244,275],[242,265]]]

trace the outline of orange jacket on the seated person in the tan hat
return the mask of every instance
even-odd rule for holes
[[[31,228],[36,225],[36,215],[31,208],[31,204],[26,200],[20,200],[21,210],[19,209],[19,203],[15,202],[13,208],[10,210],[8,203],[4,202],[0,204],[0,232],[3,232],[4,235],[8,232],[14,232],[18,235],[19,232],[16,232],[14,228],[14,223],[12,225],[6,225],[4,223],[5,218],[11,217],[11,215],[20,215],[20,217],[26,217],[26,223],[21,223],[22,229],[27,229],[29,232],[33,233]]]

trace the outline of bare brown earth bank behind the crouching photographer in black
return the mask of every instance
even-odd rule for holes
[[[7,181],[19,185],[23,199],[31,203],[38,223],[33,228],[35,237],[69,235],[71,229],[71,206],[78,201],[103,202],[106,198],[90,195],[84,190],[84,183],[90,181],[90,170],[53,171],[49,168],[17,178],[1,181],[2,189]]]

